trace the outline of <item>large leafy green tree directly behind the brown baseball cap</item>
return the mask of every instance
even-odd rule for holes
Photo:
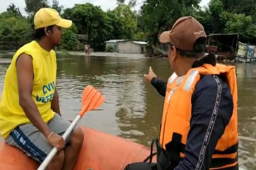
[[[192,13],[198,8],[200,0],[145,0],[139,13],[138,25],[147,32],[149,42],[156,44],[158,35],[172,28],[181,16]]]

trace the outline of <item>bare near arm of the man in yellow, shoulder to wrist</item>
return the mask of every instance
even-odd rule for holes
[[[32,57],[22,53],[16,60],[16,71],[19,89],[19,104],[23,108],[30,122],[47,138],[51,133],[51,130],[43,121],[39,110],[31,97],[34,77]]]

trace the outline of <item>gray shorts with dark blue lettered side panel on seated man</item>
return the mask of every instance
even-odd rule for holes
[[[62,135],[71,123],[60,117],[58,114],[48,122],[47,126],[55,133]],[[15,146],[25,152],[28,156],[42,163],[49,152],[51,146],[44,135],[33,125],[25,124],[16,127],[5,138],[5,142]]]

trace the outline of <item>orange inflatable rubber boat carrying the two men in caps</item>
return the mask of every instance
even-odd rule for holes
[[[150,148],[121,137],[81,127],[84,143],[74,170],[123,170],[150,155]],[[39,164],[19,149],[0,143],[0,170],[36,170]],[[156,162],[156,156],[152,162]]]

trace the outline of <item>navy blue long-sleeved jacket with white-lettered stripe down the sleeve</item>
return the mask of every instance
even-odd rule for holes
[[[208,134],[210,138],[209,142],[204,143],[204,140],[209,124],[212,121],[218,87],[213,75],[201,75],[191,98],[192,117],[185,147],[185,157],[181,159],[174,170],[195,170],[196,167],[199,167],[196,170],[209,170],[211,157],[217,141],[224,133],[224,129],[233,113],[233,98],[226,77],[220,75],[217,78],[221,85],[221,98],[212,133]],[[158,78],[153,78],[151,84],[156,88],[159,94],[165,96],[166,82]],[[203,157],[200,157],[203,151]],[[201,158],[203,158],[203,161],[199,161]]]

